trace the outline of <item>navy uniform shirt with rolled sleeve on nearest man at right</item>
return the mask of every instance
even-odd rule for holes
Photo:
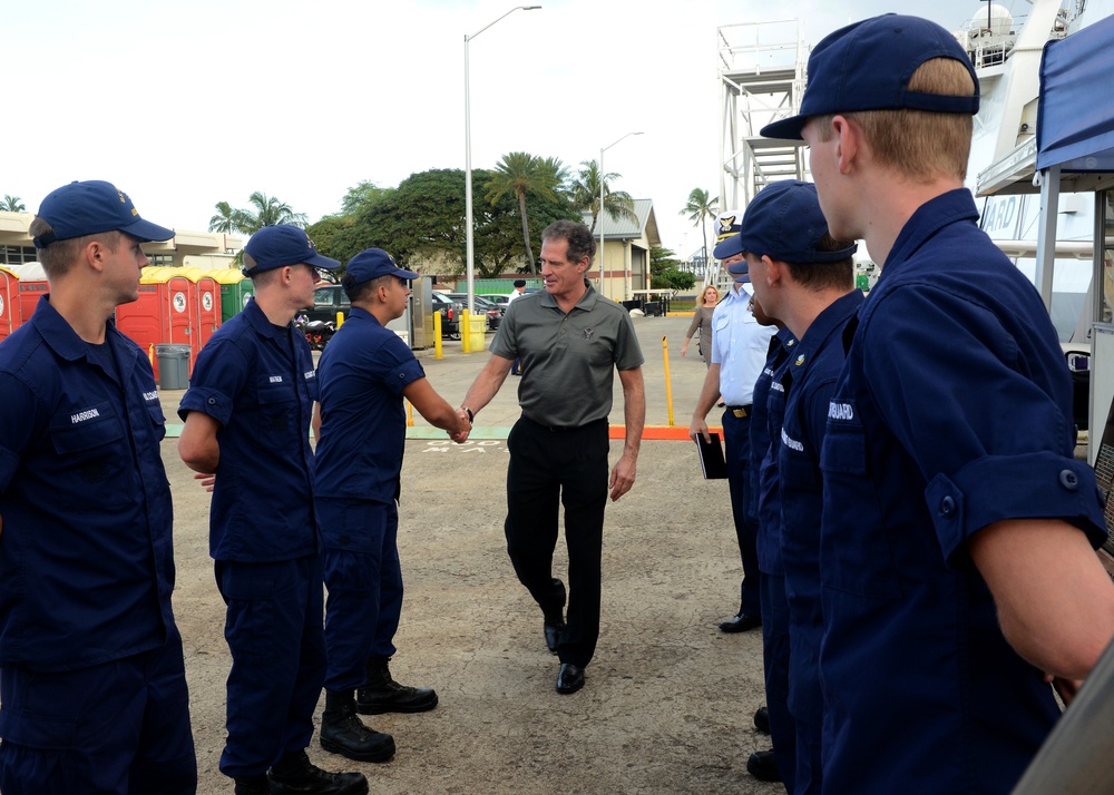
[[[821,450],[824,786],[1009,792],[1059,715],[1009,647],[968,539],[1010,518],[1105,532],[1034,287],[970,193],[909,219],[859,312]]]

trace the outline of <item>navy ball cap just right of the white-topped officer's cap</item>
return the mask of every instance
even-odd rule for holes
[[[841,262],[858,248],[852,243],[836,252],[818,251],[827,234],[817,186],[786,179],[770,183],[751,199],[737,237],[744,252],[793,265]]]

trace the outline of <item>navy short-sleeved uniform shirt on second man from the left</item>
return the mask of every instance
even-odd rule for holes
[[[273,325],[255,300],[197,355],[178,414],[221,423],[209,514],[216,560],[273,562],[317,551],[310,419],[317,399],[310,345]]]

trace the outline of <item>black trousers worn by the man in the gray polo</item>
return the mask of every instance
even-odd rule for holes
[[[558,500],[565,507],[568,615],[557,656],[583,668],[599,638],[607,421],[549,429],[522,416],[507,438],[507,552],[519,581],[547,617],[559,614],[564,596],[553,579],[553,560]]]

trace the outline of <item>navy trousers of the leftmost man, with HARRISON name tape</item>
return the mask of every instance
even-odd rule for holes
[[[193,795],[182,637],[90,668],[0,668],[4,795]]]

